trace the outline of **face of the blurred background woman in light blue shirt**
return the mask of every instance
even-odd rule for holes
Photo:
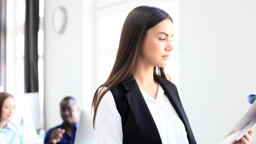
[[[4,100],[2,105],[1,121],[10,121],[15,111],[15,101],[12,97]]]

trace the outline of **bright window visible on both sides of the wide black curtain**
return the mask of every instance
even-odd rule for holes
[[[38,82],[43,126],[43,15],[44,0],[39,0]],[[6,91],[15,98],[24,95],[25,0],[7,0]]]

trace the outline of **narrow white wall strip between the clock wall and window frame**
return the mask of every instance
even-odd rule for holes
[[[91,114],[96,90],[96,1],[84,0],[83,5],[83,109]],[[88,115],[89,117],[89,115]]]

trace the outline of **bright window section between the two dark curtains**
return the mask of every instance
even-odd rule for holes
[[[7,0],[6,91],[24,93],[25,0]]]

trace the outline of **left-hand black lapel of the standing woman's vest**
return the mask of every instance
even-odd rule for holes
[[[123,85],[124,88],[129,91],[126,94],[127,100],[142,141],[145,144],[162,144],[156,123],[136,80],[133,78],[131,81],[124,82]]]

